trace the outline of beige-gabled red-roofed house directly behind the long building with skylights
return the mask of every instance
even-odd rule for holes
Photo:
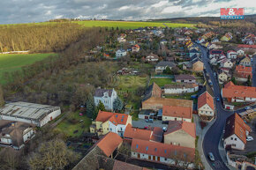
[[[196,126],[193,122],[169,121],[164,144],[195,148]]]

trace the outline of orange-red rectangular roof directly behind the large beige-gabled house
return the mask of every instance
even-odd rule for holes
[[[192,107],[163,106],[162,115],[169,117],[181,117],[185,119],[192,119]]]

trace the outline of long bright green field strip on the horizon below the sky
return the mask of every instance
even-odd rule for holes
[[[92,26],[102,26],[102,27],[119,27],[123,29],[136,29],[145,26],[161,26],[165,27],[163,24],[169,27],[194,27],[192,24],[182,24],[182,23],[160,23],[160,22],[135,22],[135,21],[99,21],[99,20],[87,20],[87,21],[73,21],[82,26],[92,27]]]

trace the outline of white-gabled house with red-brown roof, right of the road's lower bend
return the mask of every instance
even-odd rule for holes
[[[244,150],[250,131],[250,127],[239,115],[230,115],[225,126],[224,147],[230,145],[232,149]]]

